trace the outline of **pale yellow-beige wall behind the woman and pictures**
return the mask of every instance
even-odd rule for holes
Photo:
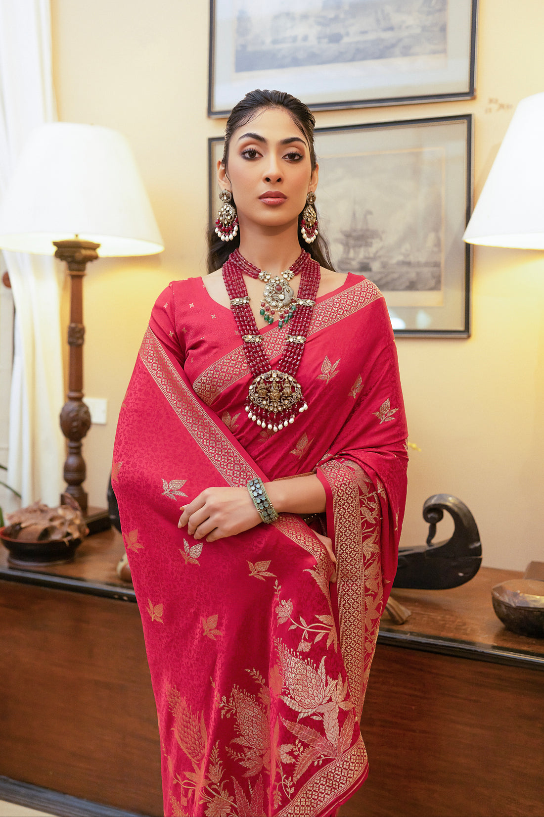
[[[51,0],[59,118],[127,136],[166,250],[96,261],[85,282],[85,391],[109,400],[85,441],[87,490],[104,504],[115,418],[154,298],[203,273],[207,219],[207,0]],[[481,0],[473,101],[317,114],[318,126],[475,114],[475,195],[512,109],[544,91],[542,0]],[[543,191],[544,192],[544,191]],[[484,564],[524,569],[544,548],[544,254],[476,248],[472,337],[398,342],[411,454],[402,544],[421,544],[422,502],[453,493],[473,511]],[[444,536],[448,529],[444,528]]]

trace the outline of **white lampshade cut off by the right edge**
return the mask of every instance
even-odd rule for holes
[[[544,249],[544,93],[515,109],[463,239]]]

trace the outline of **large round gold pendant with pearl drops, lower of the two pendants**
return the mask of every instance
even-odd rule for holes
[[[249,386],[247,417],[269,431],[286,428],[307,408],[299,383],[277,369],[258,374]]]

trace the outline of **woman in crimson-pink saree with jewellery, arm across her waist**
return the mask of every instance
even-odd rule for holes
[[[119,417],[167,815],[325,817],[368,773],[406,427],[381,293],[319,236],[313,130],[285,93],[233,109],[215,271],[158,298]]]

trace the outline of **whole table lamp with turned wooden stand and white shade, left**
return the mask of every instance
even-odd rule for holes
[[[107,511],[87,507],[82,438],[91,425],[83,403],[82,279],[98,257],[142,256],[163,251],[132,150],[108,127],[47,123],[23,148],[0,209],[0,248],[55,255],[70,276],[69,385],[60,413],[68,441],[64,477],[91,532]]]

